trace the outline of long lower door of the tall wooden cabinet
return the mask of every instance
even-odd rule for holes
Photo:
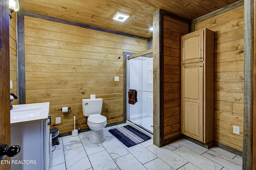
[[[183,64],[181,71],[181,132],[203,141],[203,63]]]

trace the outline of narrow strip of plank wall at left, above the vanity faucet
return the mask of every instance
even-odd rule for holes
[[[12,19],[9,21],[10,30],[10,80],[12,80],[11,93],[18,96],[17,92],[17,41],[16,41],[16,12],[12,13]],[[12,102],[18,104],[18,100]]]

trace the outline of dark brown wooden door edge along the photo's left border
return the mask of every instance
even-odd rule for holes
[[[8,0],[0,1],[0,145],[10,146],[10,43]],[[9,160],[10,158],[5,158]],[[10,170],[10,164],[1,164],[2,170]]]

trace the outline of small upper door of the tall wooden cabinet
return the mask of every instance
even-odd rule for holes
[[[204,30],[183,35],[181,48],[182,64],[204,61]]]

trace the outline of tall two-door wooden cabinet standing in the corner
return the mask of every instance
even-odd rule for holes
[[[181,132],[202,143],[214,140],[214,31],[182,36]]]

